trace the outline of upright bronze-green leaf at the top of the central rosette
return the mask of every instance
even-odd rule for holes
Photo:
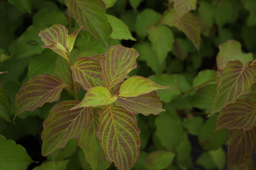
[[[100,60],[102,78],[105,86],[111,89],[121,82],[131,70],[137,67],[136,58],[139,56],[134,48],[121,45],[111,46]]]

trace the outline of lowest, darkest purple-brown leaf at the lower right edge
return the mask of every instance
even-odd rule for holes
[[[256,153],[256,126],[251,130],[229,130],[228,163],[241,164]]]

